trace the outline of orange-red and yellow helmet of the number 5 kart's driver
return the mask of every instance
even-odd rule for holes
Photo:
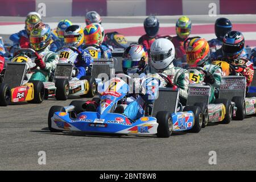
[[[186,47],[187,63],[189,67],[199,67],[210,57],[210,47],[207,40],[194,38]]]

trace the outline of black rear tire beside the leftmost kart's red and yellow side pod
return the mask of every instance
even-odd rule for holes
[[[31,104],[42,103],[45,95],[43,82],[38,80],[31,80],[28,82],[34,85],[34,99],[31,101],[28,101],[28,103],[31,103]]]

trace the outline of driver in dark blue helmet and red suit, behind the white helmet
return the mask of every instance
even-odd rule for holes
[[[155,16],[148,16],[144,20],[145,35],[139,38],[138,43],[143,45],[150,52],[151,44],[159,38],[159,20]]]

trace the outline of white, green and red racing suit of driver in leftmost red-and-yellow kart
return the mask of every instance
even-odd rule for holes
[[[50,47],[51,45],[48,45],[46,48],[38,51],[41,59],[35,60],[36,67],[33,68],[30,80],[48,81],[51,74],[55,71],[59,55],[50,51]]]

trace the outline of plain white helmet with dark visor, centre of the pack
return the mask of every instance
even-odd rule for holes
[[[152,67],[155,69],[164,69],[174,61],[174,44],[168,39],[156,39],[150,48],[150,57]]]

